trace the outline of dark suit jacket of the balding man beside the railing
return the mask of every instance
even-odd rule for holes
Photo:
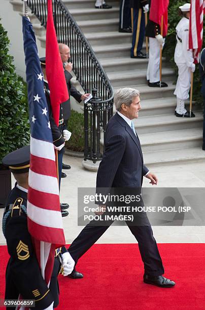
[[[82,94],[79,91],[77,91],[77,89],[74,86],[71,85],[71,79],[73,78],[73,75],[67,70],[64,70],[64,73],[65,73],[65,81],[67,84],[67,91],[69,92],[69,97],[73,96],[78,102],[81,102]],[[63,119],[68,120],[71,116],[70,98],[69,100],[61,103],[61,106],[62,106]]]

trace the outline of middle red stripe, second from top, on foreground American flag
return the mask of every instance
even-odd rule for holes
[[[59,196],[29,187],[28,200],[31,204],[47,210],[60,211]]]

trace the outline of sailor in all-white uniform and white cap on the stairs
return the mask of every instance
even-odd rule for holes
[[[179,7],[182,19],[176,27],[177,45],[175,48],[175,63],[178,66],[178,79],[174,94],[177,96],[175,115],[178,118],[189,118],[190,113],[185,109],[185,100],[189,98],[191,72],[195,71],[192,51],[187,50],[189,41],[190,3]],[[195,117],[191,112],[191,118]]]

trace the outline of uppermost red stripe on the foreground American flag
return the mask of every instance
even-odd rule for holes
[[[39,174],[48,175],[55,178],[57,177],[56,165],[54,161],[36,157],[32,154],[30,155],[30,169]]]

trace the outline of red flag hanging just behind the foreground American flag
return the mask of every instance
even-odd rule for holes
[[[58,126],[60,104],[69,99],[62,60],[53,22],[52,0],[48,0],[48,18],[46,26],[46,76],[50,90],[53,118]]]

